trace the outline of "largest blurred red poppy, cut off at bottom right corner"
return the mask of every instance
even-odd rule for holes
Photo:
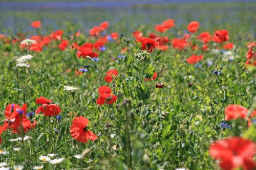
[[[210,155],[220,160],[224,170],[234,168],[254,169],[255,144],[241,137],[218,140],[210,145]]]

